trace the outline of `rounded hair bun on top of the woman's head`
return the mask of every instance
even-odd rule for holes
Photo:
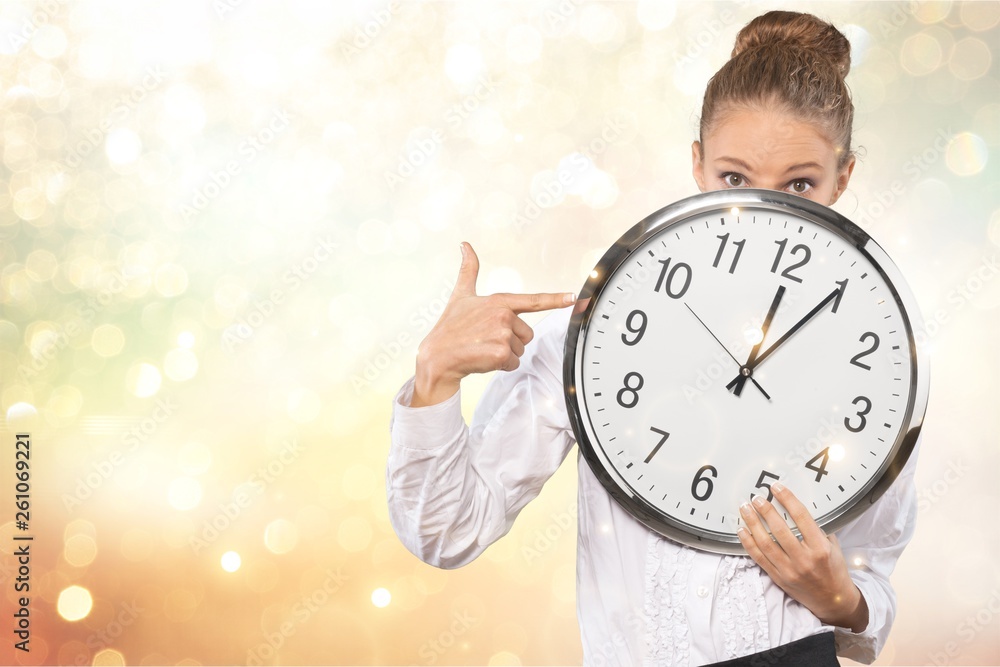
[[[851,43],[832,24],[812,14],[773,11],[743,26],[736,36],[732,57],[747,50],[798,47],[830,60],[841,77],[851,69]]]

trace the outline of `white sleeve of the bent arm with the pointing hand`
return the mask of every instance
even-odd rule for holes
[[[493,376],[467,426],[461,391],[409,407],[413,378],[393,401],[386,466],[389,518],[407,549],[461,567],[503,537],[559,468],[574,439],[562,356],[571,308],[534,328],[520,366]]]

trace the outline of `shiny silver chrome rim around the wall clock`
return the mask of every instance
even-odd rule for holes
[[[728,213],[732,208],[764,208],[784,214],[796,215],[817,224],[851,243],[866,256],[879,272],[899,306],[909,343],[913,372],[907,398],[903,426],[878,471],[866,482],[852,499],[819,517],[817,523],[826,532],[832,532],[860,516],[877,501],[899,476],[916,446],[927,410],[929,372],[926,354],[917,345],[914,330],[921,326],[920,310],[903,278],[889,255],[867,232],[836,211],[796,195],[773,190],[734,188],[697,194],[665,206],[650,214],[626,231],[597,263],[591,277],[580,290],[577,304],[570,318],[563,355],[563,382],[567,412],[576,435],[580,451],[590,469],[611,496],[647,528],[667,538],[704,551],[720,554],[746,555],[739,539],[733,533],[709,531],[676,521],[662,514],[636,492],[615,470],[608,455],[598,443],[586,412],[578,404],[577,377],[583,363],[583,348],[593,317],[591,304],[598,301],[605,286],[632,253],[646,241],[666,229],[690,222],[693,218],[712,213]],[[585,401],[584,399],[582,399]],[[793,532],[798,534],[797,529]]]

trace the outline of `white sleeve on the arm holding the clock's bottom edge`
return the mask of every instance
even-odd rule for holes
[[[854,633],[834,628],[837,655],[866,665],[878,657],[896,619],[896,593],[889,576],[913,537],[917,494],[913,474],[920,438],[899,477],[875,503],[836,534],[851,568],[851,579],[868,605],[868,626]]]

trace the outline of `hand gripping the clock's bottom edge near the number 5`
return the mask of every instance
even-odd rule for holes
[[[827,535],[809,510],[783,484],[771,485],[774,498],[788,510],[802,540],[792,533],[764,496],[740,506],[746,528],[738,535],[750,557],[783,591],[827,625],[861,632],[868,625],[868,605],[847,571],[835,535]],[[755,511],[756,510],[756,511]],[[774,539],[761,522],[771,528]]]

